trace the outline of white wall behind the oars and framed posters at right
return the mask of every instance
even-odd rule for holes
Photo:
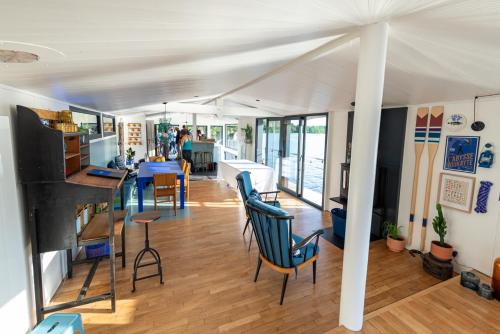
[[[449,208],[443,208],[445,218],[448,222],[447,241],[458,251],[456,258],[457,271],[460,265],[472,267],[485,274],[491,274],[493,256],[500,255],[500,246],[498,245],[500,237],[498,202],[500,186],[500,165],[498,161],[491,169],[478,168],[475,175],[465,173],[455,173],[443,170],[444,151],[447,135],[472,135],[480,136],[480,148],[486,143],[491,142],[497,146],[500,145],[500,98],[484,98],[477,102],[477,118],[486,123],[486,128],[481,132],[474,132],[470,129],[470,123],[473,119],[473,102],[459,101],[452,103],[432,103],[425,106],[444,105],[444,121],[452,113],[463,114],[467,117],[468,124],[464,130],[459,132],[450,132],[443,127],[441,142],[434,162],[434,177],[431,190],[431,205],[429,212],[429,223],[427,225],[426,249],[430,248],[432,240],[437,239],[437,235],[432,230],[432,218],[436,215],[435,203],[439,186],[439,174],[441,172],[454,173],[464,176],[473,176],[476,179],[476,189],[473,196],[473,207],[476,203],[479,182],[489,180],[493,182],[488,201],[488,212],[486,214],[477,214],[474,211],[465,213]],[[414,170],[414,132],[416,110],[419,106],[410,106],[408,109],[405,151],[403,157],[403,172],[401,182],[401,193],[399,203],[399,224],[402,225],[403,233],[407,233],[408,217],[410,211],[410,200],[412,191],[412,179]],[[421,161],[421,172],[418,185],[418,198],[415,212],[415,226],[413,235],[413,245],[411,248],[417,248],[420,242],[420,230],[422,221],[423,201],[425,192],[425,181],[427,177],[427,145],[424,149]],[[496,238],[496,239],[495,239]],[[496,240],[496,241],[495,241]]]

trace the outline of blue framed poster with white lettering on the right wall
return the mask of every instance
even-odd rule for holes
[[[477,136],[447,136],[443,168],[475,174],[478,149]]]

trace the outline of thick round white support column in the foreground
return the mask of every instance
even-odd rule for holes
[[[363,27],[360,35],[340,297],[340,325],[353,331],[363,327],[388,31],[382,22]]]

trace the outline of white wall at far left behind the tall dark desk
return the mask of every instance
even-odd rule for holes
[[[17,177],[12,115],[16,105],[64,110],[69,104],[0,85],[0,324],[2,332],[25,333],[35,323],[31,248],[24,224],[22,188]],[[42,254],[48,304],[66,275],[65,252]],[[6,331],[5,326],[12,326]]]

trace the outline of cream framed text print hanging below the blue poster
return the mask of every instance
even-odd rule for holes
[[[471,212],[475,184],[476,179],[471,176],[441,173],[438,203],[451,209]]]

